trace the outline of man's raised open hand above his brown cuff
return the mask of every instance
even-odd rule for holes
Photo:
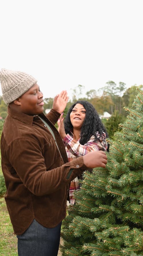
[[[67,105],[68,98],[67,91],[57,94],[53,100],[53,109],[61,114]]]

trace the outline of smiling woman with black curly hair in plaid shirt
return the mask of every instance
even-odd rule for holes
[[[69,162],[91,151],[109,151],[106,129],[96,109],[86,100],[78,100],[70,107],[64,123],[62,114],[58,126]],[[76,177],[70,185],[70,204],[75,204],[74,191],[80,189],[78,179],[82,179],[82,175]]]

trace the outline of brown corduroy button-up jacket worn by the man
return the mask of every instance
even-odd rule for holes
[[[53,130],[60,152],[39,116]],[[43,113],[39,116],[12,111],[8,106],[1,135],[5,200],[17,235],[23,234],[33,219],[44,227],[58,225],[66,216],[70,181],[87,168],[83,157],[68,162],[54,126],[60,114],[51,109],[48,118]]]

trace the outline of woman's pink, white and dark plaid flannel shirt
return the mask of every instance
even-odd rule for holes
[[[65,150],[67,153],[67,158],[70,161],[74,160],[75,158],[79,156],[84,156],[88,154],[91,151],[98,151],[98,150],[107,150],[107,143],[105,142],[106,139],[106,134],[103,132],[102,136],[97,132],[96,133],[98,141],[94,141],[95,136],[91,136],[90,140],[85,143],[84,145],[80,144],[80,138],[78,141],[74,139],[74,134],[70,136],[67,134],[65,138],[63,139],[63,143],[65,145]],[[104,140],[103,140],[104,139]],[[70,199],[70,204],[75,203],[74,199],[74,191],[78,191],[80,189],[80,184],[78,182],[78,177],[76,177],[70,185],[69,188],[69,199]]]

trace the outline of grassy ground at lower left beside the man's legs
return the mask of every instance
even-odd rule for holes
[[[0,175],[2,175],[1,169]],[[4,196],[0,198],[0,255],[18,256],[17,237],[13,233],[13,227],[9,218]],[[60,249],[58,256],[61,256]]]

